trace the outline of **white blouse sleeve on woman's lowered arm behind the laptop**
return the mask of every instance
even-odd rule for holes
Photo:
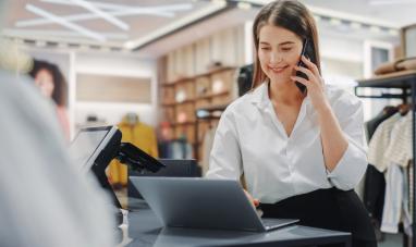
[[[242,158],[235,119],[227,109],[221,115],[213,137],[206,177],[240,180],[241,175]]]

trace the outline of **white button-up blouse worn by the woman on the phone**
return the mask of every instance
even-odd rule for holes
[[[367,168],[362,102],[326,86],[326,94],[348,147],[332,172],[323,162],[317,113],[306,97],[295,126],[286,135],[268,95],[268,83],[232,102],[222,113],[207,178],[240,180],[264,203],[320,188],[353,189]]]

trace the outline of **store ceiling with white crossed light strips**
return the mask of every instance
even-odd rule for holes
[[[321,29],[359,38],[397,36],[405,23],[416,23],[416,0],[301,0]],[[167,51],[215,29],[253,21],[270,0],[9,0],[3,35],[27,44],[107,47]],[[403,14],[401,14],[403,13]],[[204,23],[209,23],[208,28]],[[337,24],[337,25],[335,25]],[[200,30],[203,29],[203,30]],[[168,41],[161,39],[169,39]],[[163,47],[156,46],[162,44]],[[183,45],[183,44],[182,44]]]

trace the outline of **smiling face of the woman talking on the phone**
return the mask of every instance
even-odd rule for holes
[[[287,82],[302,52],[302,39],[291,30],[265,25],[259,32],[258,59],[271,82]]]

